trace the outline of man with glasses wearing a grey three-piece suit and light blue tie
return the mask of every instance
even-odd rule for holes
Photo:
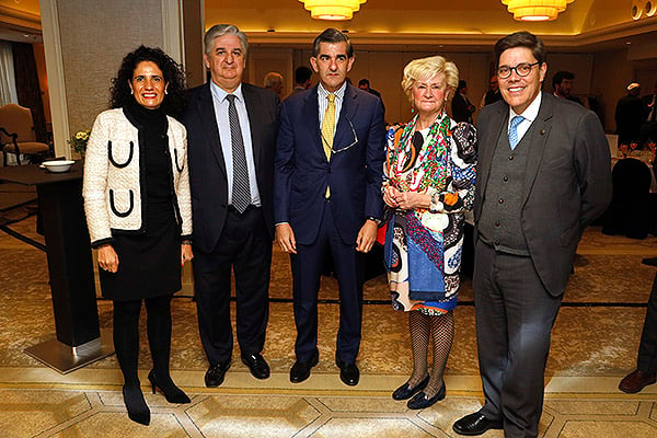
[[[453,425],[537,437],[554,320],[584,228],[611,199],[595,113],[542,93],[545,48],[528,32],[497,42],[503,101],[477,120],[473,291],[485,404]]]

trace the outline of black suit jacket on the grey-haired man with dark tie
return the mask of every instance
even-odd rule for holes
[[[267,231],[274,238],[272,185],[278,97],[270,91],[247,83],[242,83],[242,93],[249,113],[263,215]],[[210,252],[217,245],[226,221],[229,182],[209,82],[188,91],[183,123],[187,128],[194,246]]]

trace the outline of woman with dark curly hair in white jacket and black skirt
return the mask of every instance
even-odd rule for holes
[[[112,87],[112,110],[93,125],[84,163],[84,210],[97,250],[103,297],[114,302],[114,346],[130,419],[148,425],[137,374],[139,313],[146,302],[153,369],[148,379],[171,403],[189,403],[169,373],[171,298],[192,260],[187,140],[171,117],[184,73],[159,48],[128,54]]]

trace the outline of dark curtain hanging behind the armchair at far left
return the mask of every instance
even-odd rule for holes
[[[36,140],[47,142],[44,100],[32,44],[12,43],[19,105],[32,110]]]

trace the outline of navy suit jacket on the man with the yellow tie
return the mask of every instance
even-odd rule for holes
[[[368,216],[382,215],[385,131],[381,101],[347,84],[333,149],[348,149],[333,153],[330,162],[321,143],[318,112],[316,85],[281,104],[274,219],[276,223],[289,222],[298,243],[313,243],[328,185],[335,227],[343,242],[351,244]]]

